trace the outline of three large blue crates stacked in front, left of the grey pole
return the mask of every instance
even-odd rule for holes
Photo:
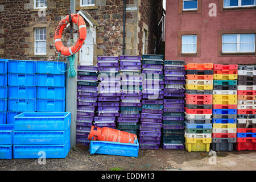
[[[14,118],[14,159],[65,158],[68,155],[71,113],[24,112]]]

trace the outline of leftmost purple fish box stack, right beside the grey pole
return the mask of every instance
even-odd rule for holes
[[[88,135],[98,105],[98,68],[79,65],[77,69],[76,143],[89,146]]]

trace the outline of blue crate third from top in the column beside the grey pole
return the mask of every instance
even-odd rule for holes
[[[66,98],[66,88],[54,86],[38,86],[38,98],[63,100]]]

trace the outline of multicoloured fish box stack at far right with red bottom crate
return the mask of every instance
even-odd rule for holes
[[[256,150],[256,66],[238,65],[237,150]]]

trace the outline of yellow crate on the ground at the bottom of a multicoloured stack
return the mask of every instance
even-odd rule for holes
[[[209,152],[212,138],[187,138],[185,137],[185,148],[188,152]]]

